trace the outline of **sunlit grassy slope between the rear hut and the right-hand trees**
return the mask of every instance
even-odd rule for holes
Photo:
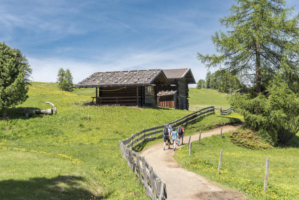
[[[227,109],[230,107],[228,95],[229,94],[219,94],[216,89],[189,88],[189,109],[199,110],[211,105],[215,105],[216,108],[222,106],[223,109]]]

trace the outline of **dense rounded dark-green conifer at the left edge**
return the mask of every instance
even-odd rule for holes
[[[0,110],[22,103],[28,97],[31,68],[19,49],[0,42]]]

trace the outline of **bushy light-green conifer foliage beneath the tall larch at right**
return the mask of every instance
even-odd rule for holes
[[[269,85],[269,94],[252,98],[235,94],[230,103],[244,115],[245,122],[268,142],[287,144],[298,132],[299,95],[277,76]]]

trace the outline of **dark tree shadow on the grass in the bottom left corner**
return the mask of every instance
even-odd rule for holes
[[[93,193],[85,188],[80,176],[62,175],[53,178],[34,177],[29,180],[1,180],[0,199],[103,199],[112,191]]]

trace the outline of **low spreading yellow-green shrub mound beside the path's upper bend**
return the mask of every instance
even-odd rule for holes
[[[234,144],[246,148],[254,150],[272,148],[270,144],[263,142],[257,133],[250,129],[233,131],[229,137]]]

